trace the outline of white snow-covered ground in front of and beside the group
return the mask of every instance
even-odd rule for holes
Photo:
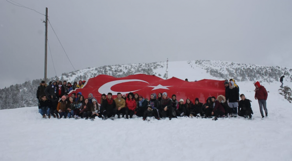
[[[253,82],[238,85],[253,101],[253,120],[57,120],[42,119],[37,107],[0,110],[0,161],[291,161],[292,108],[280,83],[263,84],[264,120]]]

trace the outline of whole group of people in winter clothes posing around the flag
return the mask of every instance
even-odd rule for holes
[[[209,97],[206,103],[201,103],[199,98],[193,103],[190,99],[177,100],[176,95],[168,96],[166,92],[155,93],[150,98],[144,98],[138,93],[128,93],[122,95],[117,93],[117,98],[112,98],[112,93],[102,94],[101,100],[98,102],[90,93],[86,98],[79,93],[72,93],[71,97],[68,93],[76,88],[82,88],[85,81],[74,82],[73,86],[70,82],[53,81],[47,86],[42,81],[37,88],[38,110],[43,118],[85,118],[94,121],[96,117],[106,120],[110,118],[114,120],[115,115],[120,119],[131,119],[133,115],[143,117],[154,117],[157,120],[177,117],[196,117],[196,118],[213,118],[218,120],[220,117],[244,117],[252,119],[253,110],[251,101],[246,99],[244,94],[239,96],[239,87],[235,80],[225,80],[225,96],[219,95]],[[262,107],[264,108],[266,117],[268,110],[266,100],[268,93],[264,86],[257,81],[255,83],[256,94],[255,99],[258,100],[262,118],[264,118]],[[240,97],[240,101],[239,101]]]

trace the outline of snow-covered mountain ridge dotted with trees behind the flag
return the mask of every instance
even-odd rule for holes
[[[67,80],[70,82],[88,80],[100,74],[113,77],[126,77],[133,74],[156,75],[166,78],[166,62],[137,63],[123,65],[106,65],[89,67],[60,77],[47,79]],[[190,60],[168,62],[168,78],[188,78],[189,81],[201,79],[225,80],[233,78],[236,81],[273,82],[285,75],[285,81],[292,82],[292,68],[281,66],[263,66],[219,60]],[[37,106],[36,92],[42,79],[26,81],[0,89],[0,109]]]

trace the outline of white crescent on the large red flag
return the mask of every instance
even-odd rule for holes
[[[129,81],[142,81],[142,82],[148,83],[147,81],[144,81],[144,80],[114,80],[114,81],[110,81],[110,82],[107,82],[107,83],[103,84],[101,87],[98,88],[98,92],[101,93],[101,94],[103,94],[103,93],[104,94],[112,93],[112,95],[117,95],[117,93],[121,93],[123,95],[123,94],[128,94],[130,92],[136,92],[136,91],[141,90],[141,89],[139,89],[139,90],[128,91],[128,92],[119,92],[119,91],[111,90],[112,86],[114,86],[116,84],[119,84],[119,83],[129,82]]]

